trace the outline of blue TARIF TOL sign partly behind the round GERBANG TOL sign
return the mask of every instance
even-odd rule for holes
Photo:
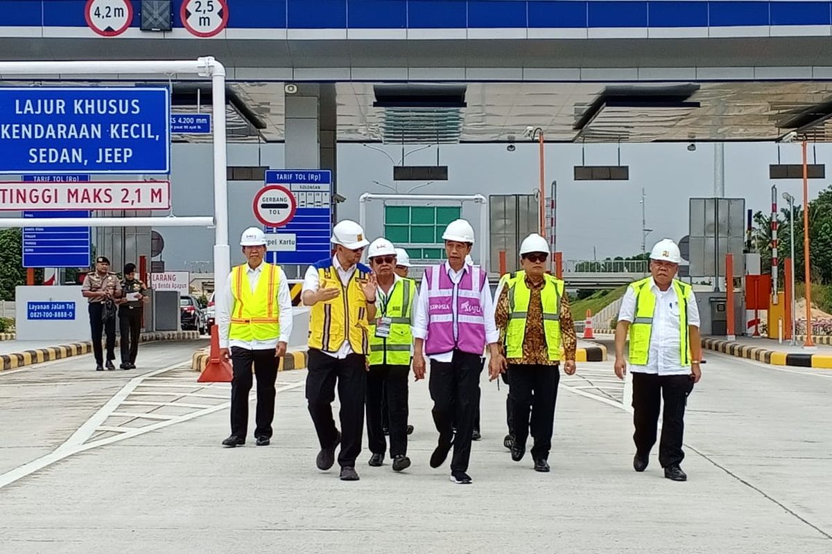
[[[295,197],[295,216],[280,228],[265,228],[269,240],[266,260],[280,264],[310,264],[331,255],[332,172],[269,169],[265,184],[282,184]]]

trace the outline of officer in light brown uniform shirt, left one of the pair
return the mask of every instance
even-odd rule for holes
[[[81,294],[89,301],[96,371],[104,370],[102,331],[106,333],[106,369],[115,370],[112,360],[116,359],[116,298],[121,297],[121,282],[115,273],[110,272],[110,260],[106,256],[96,258],[96,270],[84,277]]]

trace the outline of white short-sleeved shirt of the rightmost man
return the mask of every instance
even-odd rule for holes
[[[656,309],[653,311],[653,324],[650,334],[650,350],[647,351],[647,365],[631,364],[630,370],[636,373],[652,373],[654,375],[688,375],[690,367],[683,367],[679,360],[681,349],[679,299],[676,290],[671,286],[666,291],[656,287],[656,282],[650,279],[648,285],[656,295]],[[687,295],[687,323],[698,327],[699,307],[693,289],[688,289]],[[643,294],[643,293],[642,293]],[[618,312],[618,321],[632,321],[636,318],[636,292],[627,287],[622,299],[622,307]]]

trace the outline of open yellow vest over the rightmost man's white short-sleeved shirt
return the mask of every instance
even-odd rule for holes
[[[636,293],[636,317],[630,325],[630,363],[635,365],[647,365],[650,352],[653,312],[656,311],[656,295],[650,283],[651,277],[647,277],[630,285]],[[682,366],[691,365],[691,337],[687,326],[687,297],[691,286],[674,279],[671,287],[679,300],[679,361]]]

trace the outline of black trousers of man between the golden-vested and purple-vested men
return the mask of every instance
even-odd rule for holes
[[[367,443],[370,452],[387,451],[384,413],[390,432],[390,457],[408,453],[408,375],[410,365],[370,365],[367,373]],[[385,394],[386,393],[386,394]],[[384,403],[384,396],[387,402]]]

